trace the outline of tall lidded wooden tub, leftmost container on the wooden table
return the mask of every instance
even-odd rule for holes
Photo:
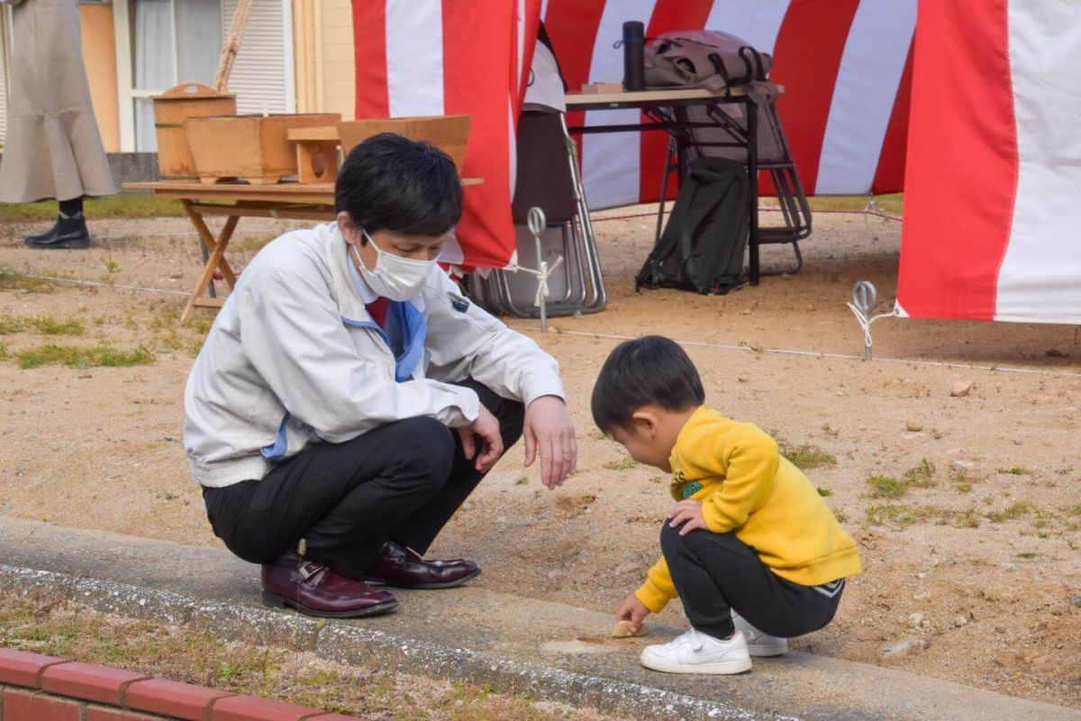
[[[164,181],[198,177],[184,122],[199,116],[237,115],[237,96],[188,83],[170,88],[154,101],[154,126],[158,133],[158,173]]]

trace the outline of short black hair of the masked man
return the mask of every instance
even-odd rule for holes
[[[334,187],[334,212],[368,232],[442,236],[462,217],[454,161],[429,143],[381,133],[349,151]]]

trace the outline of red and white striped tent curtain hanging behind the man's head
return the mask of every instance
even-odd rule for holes
[[[441,259],[502,268],[515,252],[515,126],[539,0],[353,0],[357,118],[471,115],[455,235]]]

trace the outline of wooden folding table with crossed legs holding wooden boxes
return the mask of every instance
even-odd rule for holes
[[[462,178],[463,186],[481,185],[482,178]],[[225,257],[237,224],[242,217],[272,217],[297,221],[322,221],[329,223],[334,213],[334,184],[279,183],[277,185],[248,185],[245,183],[125,183],[125,190],[149,190],[159,198],[173,198],[184,205],[199,240],[206,249],[199,281],[191,291],[191,297],[184,308],[181,322],[191,320],[196,308],[221,308],[225,299],[206,297],[214,272],[222,277],[231,290],[237,284],[237,273]],[[206,226],[209,216],[225,217],[222,231],[215,237]]]

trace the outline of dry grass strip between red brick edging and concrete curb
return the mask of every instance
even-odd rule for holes
[[[533,704],[491,686],[425,679],[376,663],[330,663],[288,640],[281,646],[227,642],[199,626],[106,616],[36,591],[0,596],[0,645],[363,718],[576,718],[570,707]]]

